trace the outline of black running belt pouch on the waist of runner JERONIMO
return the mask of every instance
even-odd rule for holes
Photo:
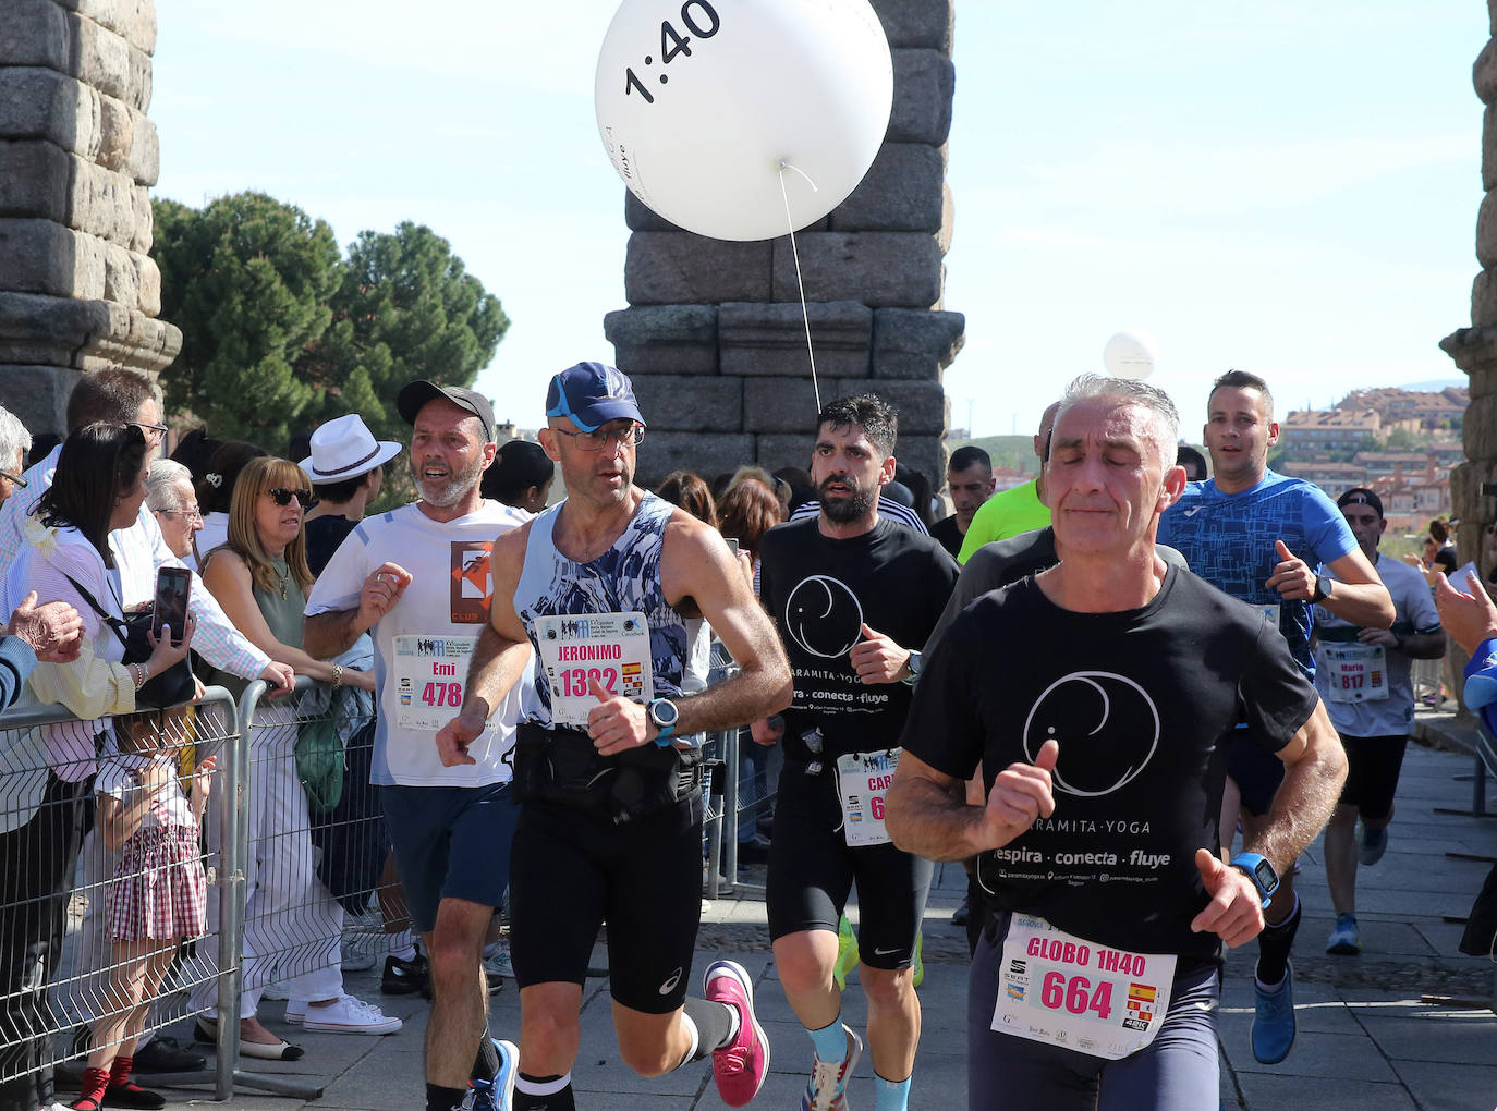
[[[687,798],[701,783],[701,750],[644,744],[599,756],[579,729],[521,723],[515,737],[515,800],[602,810],[615,825]]]

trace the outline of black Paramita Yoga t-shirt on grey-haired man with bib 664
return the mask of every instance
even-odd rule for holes
[[[1033,578],[973,602],[925,660],[904,747],[957,779],[1060,743],[1055,813],[979,858],[990,907],[1135,952],[1214,957],[1196,849],[1217,852],[1226,738],[1277,752],[1314,687],[1263,614],[1171,567],[1141,609],[1082,614]]]

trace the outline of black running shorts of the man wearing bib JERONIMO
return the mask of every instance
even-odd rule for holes
[[[675,1011],[702,919],[701,792],[623,825],[597,810],[521,804],[509,918],[521,988],[581,984],[606,921],[614,1000],[645,1014]]]

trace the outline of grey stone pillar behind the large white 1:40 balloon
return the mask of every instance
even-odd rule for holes
[[[873,0],[894,54],[894,111],[858,189],[796,234],[822,401],[874,391],[900,410],[903,463],[945,478],[942,371],[964,319],[943,311],[954,0]],[[650,434],[639,478],[807,466],[816,404],[790,238],[681,231],[626,192],[629,308],[603,328]]]

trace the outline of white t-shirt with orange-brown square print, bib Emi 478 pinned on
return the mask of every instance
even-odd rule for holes
[[[494,538],[528,520],[522,509],[484,502],[455,521],[433,521],[416,505],[365,518],[340,545],[307,599],[307,614],[355,609],[364,579],[382,563],[412,573],[395,608],[371,630],[379,725],[374,783],[476,788],[512,777],[510,750],[522,683],[515,684],[488,729],[469,746],[476,764],[442,767],[437,731],[463,705],[469,659],[488,623]]]

